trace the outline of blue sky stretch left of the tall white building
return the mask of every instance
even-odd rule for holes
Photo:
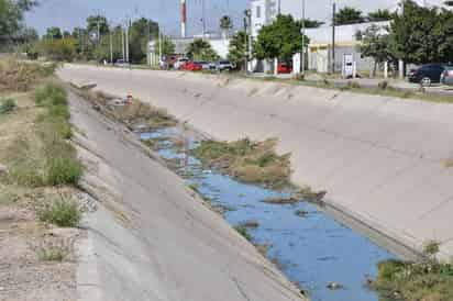
[[[201,31],[201,0],[187,0],[189,33]],[[230,12],[236,25],[245,0],[206,0],[207,23],[217,30],[220,15]],[[169,34],[179,33],[180,0],[41,0],[41,5],[27,13],[26,21],[43,33],[46,27],[57,25],[63,29],[84,25],[90,14],[101,13],[113,23],[122,22],[126,15],[146,16],[158,21]]]

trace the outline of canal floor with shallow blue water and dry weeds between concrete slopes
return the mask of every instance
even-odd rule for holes
[[[279,178],[273,179],[278,185],[270,185],[259,175],[237,177],[245,169],[228,172],[229,166],[242,168],[254,161],[267,168],[267,174],[263,174],[267,177],[284,175],[285,170],[289,174],[289,156],[279,157],[269,150],[274,142],[207,143],[163,110],[100,92],[78,92],[93,102],[97,110],[133,130],[143,144],[186,180],[194,196],[199,193],[205,205],[222,214],[311,300],[388,301],[379,298],[369,283],[376,277],[377,264],[398,259],[397,256],[327,214],[322,192],[300,190]],[[207,164],[198,156],[200,148],[226,159]],[[222,154],[224,149],[230,153]],[[252,152],[239,163],[231,157],[244,155],[247,149],[259,149],[261,154]],[[268,165],[269,161],[276,164]],[[253,170],[253,166],[247,168]],[[259,180],[261,185],[252,183]]]

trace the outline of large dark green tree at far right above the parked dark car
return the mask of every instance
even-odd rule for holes
[[[453,60],[453,13],[410,0],[401,4],[402,13],[396,14],[390,25],[395,57],[413,64]]]

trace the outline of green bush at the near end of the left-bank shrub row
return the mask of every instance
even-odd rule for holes
[[[84,172],[82,165],[71,157],[53,157],[47,161],[46,182],[51,186],[77,185]]]

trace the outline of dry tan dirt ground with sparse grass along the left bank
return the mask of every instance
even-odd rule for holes
[[[79,193],[74,188],[25,188],[4,180],[13,144],[33,141],[38,109],[31,93],[0,94],[18,108],[0,115],[0,301],[77,300],[74,249],[84,235],[78,228],[58,228],[36,218],[36,207],[60,193]],[[62,258],[51,258],[58,250]]]

